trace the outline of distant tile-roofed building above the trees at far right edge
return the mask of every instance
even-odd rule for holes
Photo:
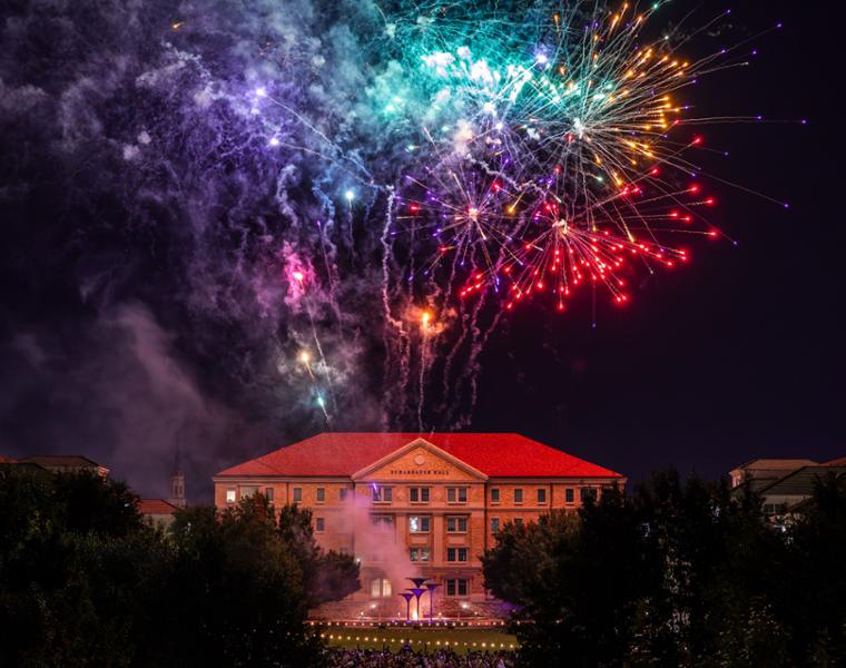
[[[816,484],[826,475],[846,475],[846,458],[817,463],[813,460],[752,460],[732,469],[732,494],[750,488],[761,498],[764,514],[774,523],[789,523],[801,514]]]

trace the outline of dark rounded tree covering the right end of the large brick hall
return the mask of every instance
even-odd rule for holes
[[[514,625],[528,665],[613,665],[631,642],[629,620],[653,586],[648,544],[619,489],[561,511],[506,524],[482,560],[485,587],[520,607]]]

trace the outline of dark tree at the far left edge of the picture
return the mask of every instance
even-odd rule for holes
[[[1,469],[0,665],[129,665],[163,544],[121,483]]]

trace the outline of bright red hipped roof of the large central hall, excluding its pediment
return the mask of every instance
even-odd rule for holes
[[[220,477],[348,478],[422,438],[489,478],[622,478],[620,473],[513,433],[323,433],[220,471]]]

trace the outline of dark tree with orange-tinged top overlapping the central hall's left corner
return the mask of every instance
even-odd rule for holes
[[[218,512],[177,512],[174,566],[165,600],[178,633],[160,649],[177,665],[312,666],[304,570],[276,530],[273,508],[255,494]]]

